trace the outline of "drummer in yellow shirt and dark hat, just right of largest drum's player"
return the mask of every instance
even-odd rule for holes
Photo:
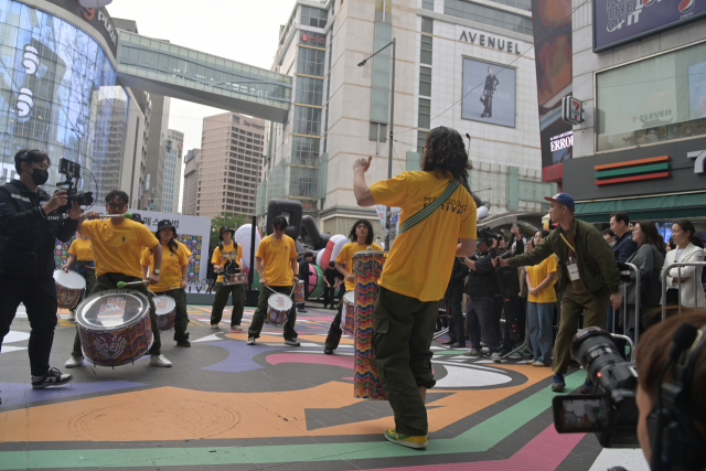
[[[186,246],[176,240],[176,228],[169,220],[157,223],[154,236],[162,246],[162,267],[159,282],[150,285],[152,292],[169,296],[176,304],[174,318],[174,340],[176,346],[191,346],[189,342],[189,314],[186,312],[186,285],[189,283],[189,256],[191,255]],[[148,268],[154,268],[154,253],[146,249],[142,253],[142,277],[147,276]]]

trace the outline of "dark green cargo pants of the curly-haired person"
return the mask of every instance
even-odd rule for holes
[[[439,301],[422,302],[379,287],[373,311],[373,355],[398,433],[427,435],[418,387],[434,387],[430,350]]]

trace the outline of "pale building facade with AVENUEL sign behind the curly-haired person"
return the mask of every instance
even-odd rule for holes
[[[387,178],[391,47],[357,64],[393,39],[393,175],[418,170],[429,130],[447,126],[471,137],[471,189],[493,214],[542,211],[556,185],[542,182],[531,18],[523,0],[298,0],[272,66],[293,75],[293,108],[268,129],[258,215],[287,197],[323,232],[346,234],[360,216],[378,232],[352,168],[373,156],[370,183]]]

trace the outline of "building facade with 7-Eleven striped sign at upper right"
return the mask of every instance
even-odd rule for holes
[[[681,217],[705,232],[706,9],[621,4],[574,1],[574,96],[584,122],[574,126],[564,189],[590,222],[625,211],[657,221],[665,237]]]

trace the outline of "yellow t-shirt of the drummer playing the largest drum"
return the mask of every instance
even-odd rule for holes
[[[90,237],[96,277],[122,274],[141,279],[142,248],[159,244],[150,229],[130,220],[118,225],[104,220],[84,221],[81,232]]]

